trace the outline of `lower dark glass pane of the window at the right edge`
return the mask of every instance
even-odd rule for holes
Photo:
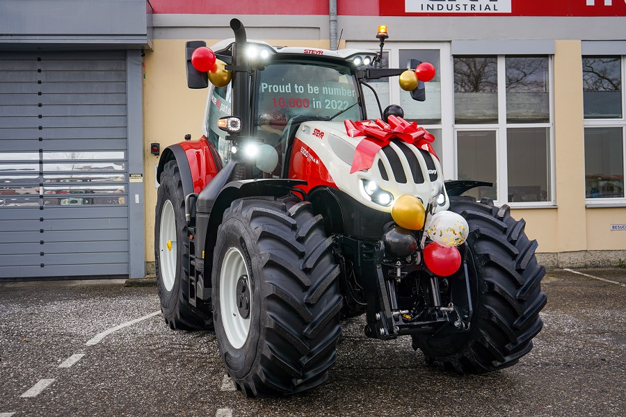
[[[624,148],[621,127],[585,129],[585,197],[624,197]]]

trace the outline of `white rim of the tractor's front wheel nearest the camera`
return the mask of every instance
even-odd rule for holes
[[[237,281],[241,275],[250,277],[246,261],[243,260],[241,252],[236,247],[231,247],[227,250],[220,268],[220,313],[228,341],[235,349],[239,349],[246,343],[250,332],[250,316],[252,316],[252,288],[250,288],[248,318],[243,318],[239,313]]]

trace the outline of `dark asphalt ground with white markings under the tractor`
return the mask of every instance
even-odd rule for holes
[[[0,417],[626,414],[624,269],[548,271],[545,327],[511,368],[442,373],[354,318],[328,381],[279,398],[234,391],[214,332],[170,330],[154,281],[130,284],[0,283]]]

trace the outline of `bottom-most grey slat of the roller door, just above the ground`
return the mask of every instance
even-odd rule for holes
[[[45,265],[45,264],[44,264]],[[0,267],[0,278],[16,277],[76,277],[97,275],[128,275],[128,263],[106,263],[102,265],[24,265]]]

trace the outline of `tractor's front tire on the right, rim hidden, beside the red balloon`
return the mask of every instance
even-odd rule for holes
[[[533,347],[543,327],[539,311],[547,302],[540,281],[545,268],[535,258],[536,240],[524,233],[524,220],[490,199],[452,197],[450,211],[467,220],[474,317],[464,334],[413,336],[413,348],[426,363],[457,373],[483,373],[512,366]]]

